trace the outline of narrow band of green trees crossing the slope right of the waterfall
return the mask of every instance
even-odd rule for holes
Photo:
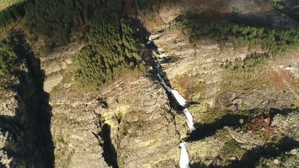
[[[196,21],[178,21],[168,28],[188,28],[191,31],[190,40],[196,43],[200,40],[219,41],[231,43],[236,48],[249,46],[251,48],[261,47],[272,55],[280,56],[299,47],[299,30],[290,28],[258,28],[247,25],[232,23],[211,23]]]

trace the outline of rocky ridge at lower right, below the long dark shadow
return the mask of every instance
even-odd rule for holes
[[[187,144],[191,165],[297,167],[297,115],[297,111],[275,115],[269,130],[224,127],[212,136],[191,141]]]

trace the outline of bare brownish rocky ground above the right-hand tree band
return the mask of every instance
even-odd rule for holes
[[[177,17],[188,14],[198,15],[202,20],[223,21],[230,20],[232,12],[241,12],[245,17],[268,17],[268,20],[271,18],[275,26],[295,27],[297,25],[295,20],[265,4],[264,1],[255,0],[178,0],[174,4],[153,6],[140,12],[138,17],[149,32],[164,29]]]

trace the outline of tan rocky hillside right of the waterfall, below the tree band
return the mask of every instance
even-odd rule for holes
[[[167,61],[161,63],[160,74],[173,89],[192,103],[190,112],[198,125],[196,138],[190,138],[187,143],[192,167],[298,166],[295,152],[298,141],[294,133],[297,128],[296,124],[292,124],[297,111],[285,111],[295,108],[298,102],[297,84],[293,85],[297,75],[295,53],[288,61],[281,59],[271,62],[268,66],[271,77],[266,86],[246,89],[246,83],[226,78],[220,65],[226,60],[245,58],[250,52],[263,52],[261,49],[223,50],[211,41],[190,45],[186,30],[158,33],[153,39],[159,50],[166,53]],[[281,78],[277,79],[276,76]],[[223,87],[227,80],[235,87]],[[239,82],[244,84],[239,86]],[[226,110],[244,109],[264,109],[270,112],[270,116],[256,116],[250,121],[249,127],[242,126],[244,116],[225,114]],[[234,126],[223,127],[226,125]],[[269,141],[271,138],[277,141]],[[279,152],[271,151],[271,145]],[[267,160],[267,154],[273,154],[273,158]],[[279,156],[283,159],[278,159]]]

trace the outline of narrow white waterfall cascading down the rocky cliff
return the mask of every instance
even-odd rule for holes
[[[148,38],[147,45],[151,44],[152,42],[153,42],[153,40],[152,40],[152,35],[151,35]],[[156,52],[159,54],[160,58],[164,59],[164,57],[165,57],[164,53],[160,52],[158,49],[156,49]],[[158,62],[156,69],[159,70],[160,66],[161,66],[160,62]],[[184,107],[187,104],[187,101],[176,90],[173,90],[166,85],[164,79],[161,77],[159,72],[157,72],[157,76],[163,82],[163,86],[166,89],[166,91],[171,93],[174,96],[174,98],[176,99],[176,101],[178,102],[178,104],[180,106]],[[185,116],[187,118],[186,122],[189,127],[189,132],[191,133],[192,131],[195,130],[194,125],[193,125],[193,117],[192,117],[191,113],[189,112],[188,108],[184,108],[183,113],[185,114]],[[179,166],[180,166],[180,168],[189,168],[190,167],[189,166],[189,155],[186,150],[186,143],[181,142],[179,144],[179,146],[181,147]]]

